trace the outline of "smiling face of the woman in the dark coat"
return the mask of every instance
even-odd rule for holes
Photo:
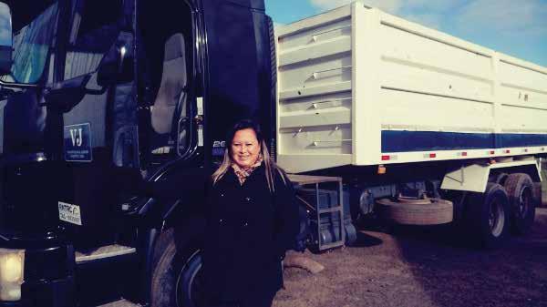
[[[258,159],[260,145],[252,128],[238,130],[232,138],[232,161],[240,168],[249,168]]]

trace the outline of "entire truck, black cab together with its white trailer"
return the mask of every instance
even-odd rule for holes
[[[291,177],[302,215],[296,250],[350,244],[352,220],[368,216],[455,221],[466,240],[490,248],[510,230],[529,231],[544,131],[417,130],[399,125],[406,117],[380,125],[402,113],[384,109],[392,96],[367,93],[403,93],[396,100],[407,110],[435,102],[439,114],[456,94],[420,91],[418,81],[416,90],[380,86],[385,71],[368,59],[393,60],[397,48],[387,57],[359,49],[388,42],[361,44],[361,32],[430,38],[480,56],[432,30],[420,35],[424,27],[400,32],[407,26],[360,3],[276,36],[263,0],[0,3],[0,307],[202,306],[203,182],[241,118],[262,124],[282,167],[305,173]],[[422,49],[400,42],[409,56],[393,62],[423,67],[412,59]],[[467,62],[448,62],[426,67],[464,76],[450,69]],[[542,74],[523,65],[515,67]],[[407,76],[404,67],[387,71]],[[408,97],[417,94],[425,100]],[[522,127],[541,127],[539,109],[521,107],[531,112],[515,115]]]

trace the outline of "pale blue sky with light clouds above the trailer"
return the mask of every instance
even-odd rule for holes
[[[353,2],[265,0],[276,24]],[[423,26],[547,67],[547,0],[362,0]]]

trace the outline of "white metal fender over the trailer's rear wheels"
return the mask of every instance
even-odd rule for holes
[[[498,163],[475,163],[461,166],[447,173],[440,189],[462,190],[484,193],[492,169],[507,173],[523,172],[530,175],[534,182],[541,181],[540,168],[535,159],[525,159]]]

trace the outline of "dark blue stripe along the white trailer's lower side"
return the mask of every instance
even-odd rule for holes
[[[382,152],[514,148],[547,145],[547,134],[382,131]]]

